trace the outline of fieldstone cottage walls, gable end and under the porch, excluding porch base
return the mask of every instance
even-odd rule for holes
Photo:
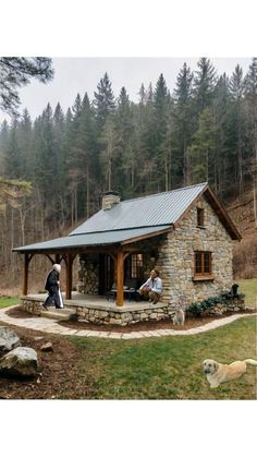
[[[197,227],[197,207],[205,212],[204,228]],[[186,304],[203,301],[230,290],[233,284],[232,255],[234,241],[217,214],[201,196],[168,234],[133,243],[143,253],[143,282],[152,268],[160,270],[163,294],[160,303],[174,306],[180,297]],[[212,258],[213,279],[194,280],[195,251],[209,251]],[[79,284],[83,293],[98,294],[98,265],[93,254],[81,256]]]

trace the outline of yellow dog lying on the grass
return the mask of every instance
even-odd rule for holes
[[[223,363],[218,363],[212,359],[206,359],[203,362],[203,368],[204,373],[207,374],[207,381],[210,383],[210,387],[216,388],[222,383],[237,380],[245,374],[247,364],[257,366],[257,360],[237,360],[230,365],[225,365]]]

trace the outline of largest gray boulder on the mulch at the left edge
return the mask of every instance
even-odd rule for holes
[[[33,377],[37,369],[37,352],[32,348],[15,348],[0,360],[0,374],[8,376]]]

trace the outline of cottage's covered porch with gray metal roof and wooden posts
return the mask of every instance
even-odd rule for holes
[[[100,305],[101,302],[105,302],[107,305],[107,292],[111,290],[112,284],[115,282],[114,304],[123,308],[131,299],[126,292],[124,293],[128,260],[131,262],[133,255],[140,255],[140,241],[145,242],[145,251],[149,243],[148,251],[150,251],[150,239],[157,240],[170,230],[170,226],[156,226],[112,232],[84,233],[14,248],[13,251],[17,252],[23,260],[22,294],[23,297],[28,296],[29,263],[35,255],[44,254],[51,264],[60,263],[65,265],[65,286],[62,287],[63,290],[65,289],[65,301],[74,299],[73,263],[75,257],[77,255],[95,256],[94,262],[98,268],[99,287],[94,292],[96,297],[90,297],[91,304],[98,303]],[[152,268],[156,262],[156,253],[148,255],[152,255],[152,264],[149,265]],[[144,280],[144,278],[137,279]],[[79,300],[82,300],[82,297]],[[87,298],[84,298],[84,300],[87,300]]]

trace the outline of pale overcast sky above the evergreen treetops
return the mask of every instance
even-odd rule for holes
[[[97,84],[108,73],[112,83],[115,97],[119,96],[121,87],[125,86],[130,99],[138,101],[138,92],[142,83],[147,88],[149,83],[152,87],[157,83],[160,73],[163,73],[167,85],[172,93],[175,86],[179,71],[186,62],[191,70],[197,70],[197,58],[53,58],[54,79],[51,83],[41,84],[32,81],[26,87],[20,89],[21,108],[28,109],[33,120],[39,116],[50,103],[54,109],[58,101],[66,111],[72,106],[77,93],[84,96],[88,93],[90,99],[97,91]],[[225,72],[232,75],[235,65],[238,63],[247,72],[250,58],[210,58],[217,69],[218,74]],[[0,121],[10,118],[0,111]]]

